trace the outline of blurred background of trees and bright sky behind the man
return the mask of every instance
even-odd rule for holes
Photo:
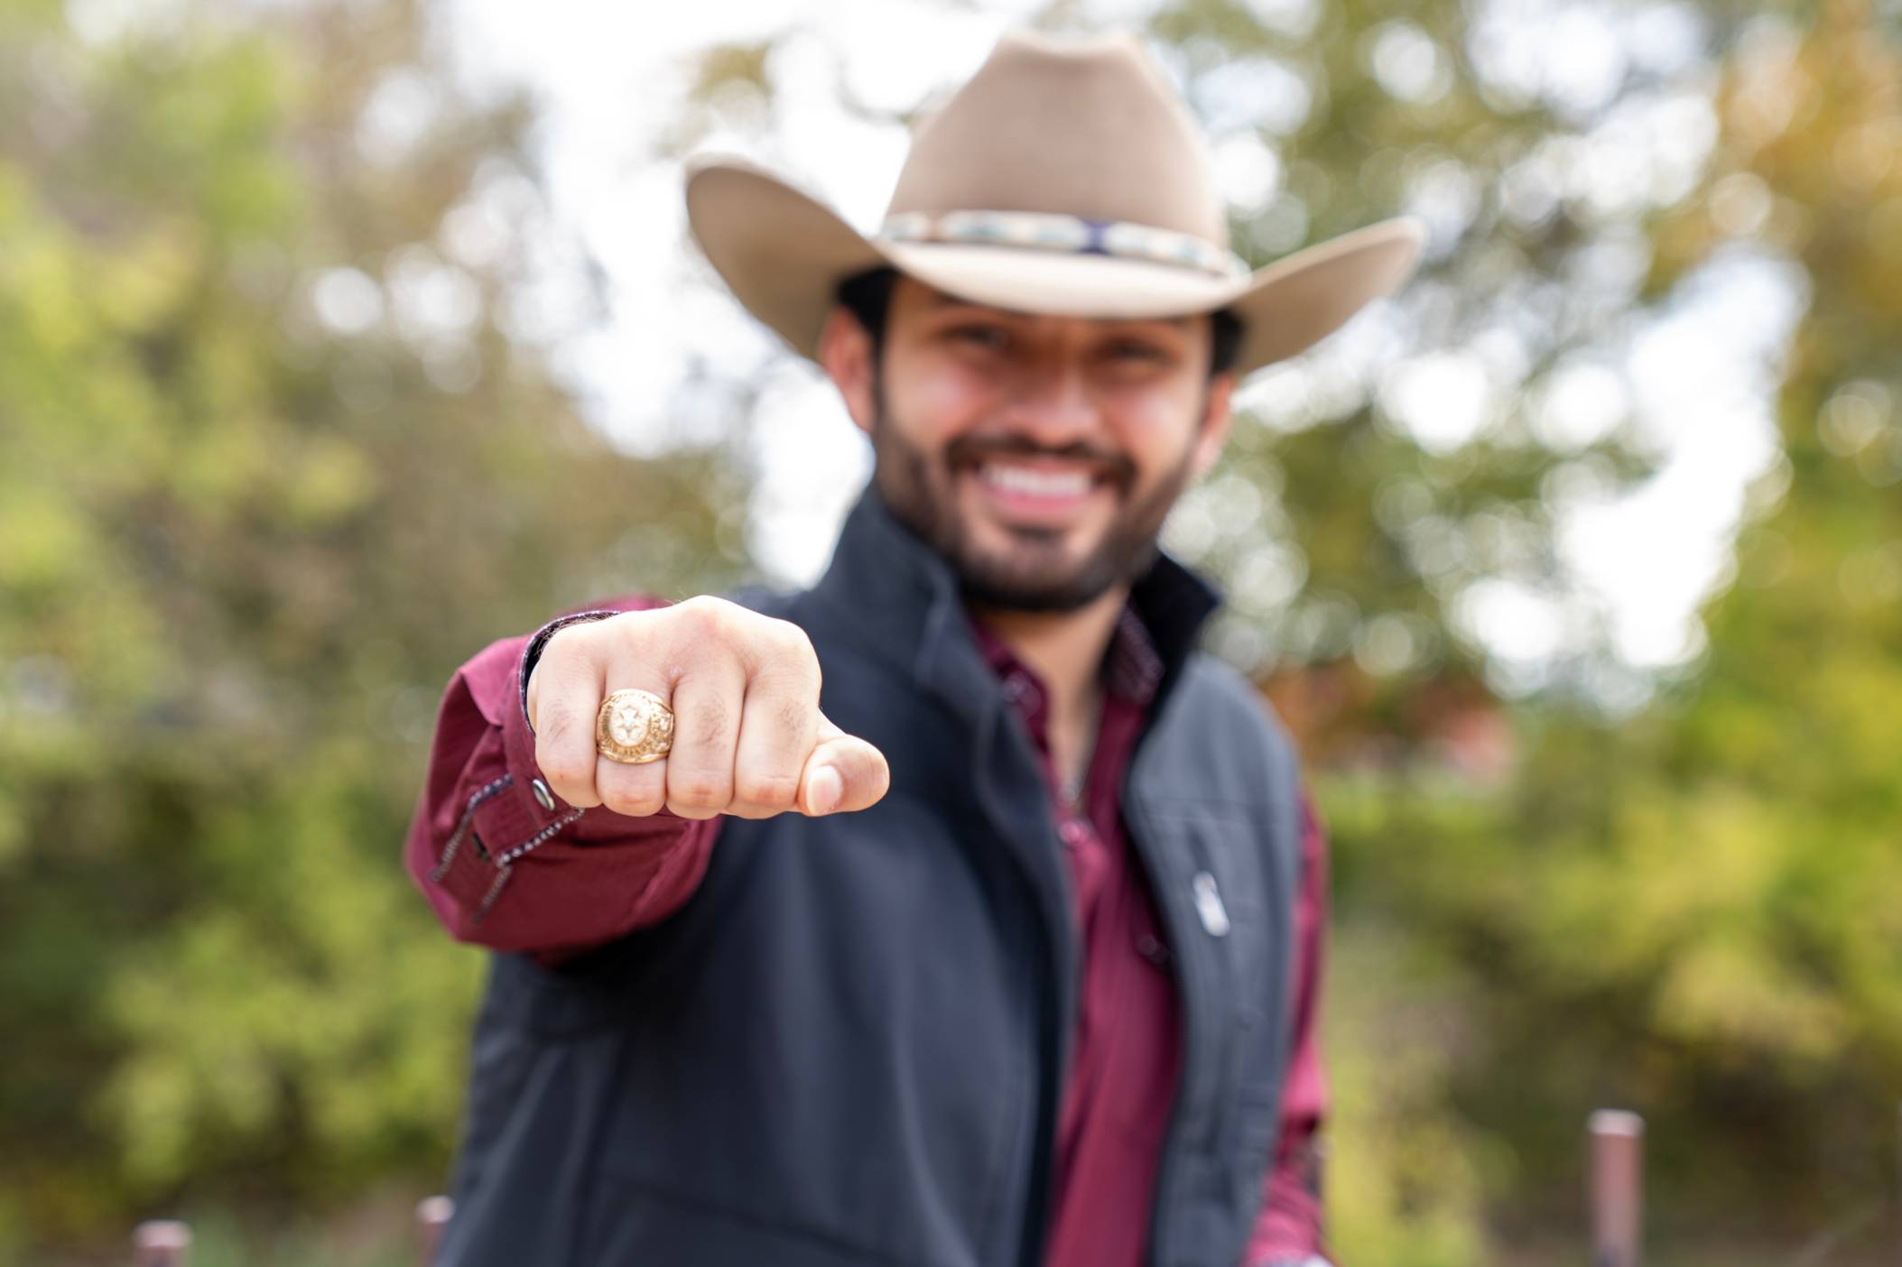
[[[1601,1105],[1651,1261],[1894,1261],[1896,0],[0,0],[0,1263],[413,1259],[443,683],[869,472],[681,156],[869,230],[1012,25],[1141,29],[1252,264],[1430,226],[1166,529],[1333,833],[1341,1261],[1586,1261]]]

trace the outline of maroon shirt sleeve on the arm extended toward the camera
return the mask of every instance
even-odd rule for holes
[[[553,795],[525,706],[542,643],[576,620],[666,607],[631,595],[491,643],[443,692],[403,864],[458,942],[559,963],[679,909],[721,818],[630,818]]]

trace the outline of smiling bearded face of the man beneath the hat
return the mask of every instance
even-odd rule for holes
[[[881,365],[844,314],[827,344],[881,497],[983,605],[1075,611],[1141,576],[1227,434],[1206,316],[1031,316],[900,276]]]

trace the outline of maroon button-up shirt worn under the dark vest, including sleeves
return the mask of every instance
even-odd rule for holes
[[[616,611],[658,607],[637,595]],[[603,609],[607,611],[607,609]],[[1103,708],[1075,801],[1050,761],[1042,681],[976,620],[972,632],[1042,757],[1065,847],[1082,991],[1058,1119],[1048,1267],[1135,1267],[1175,1094],[1181,1014],[1155,904],[1124,835],[1118,791],[1162,666],[1134,609],[1103,660]],[[546,634],[546,630],[544,630]],[[405,847],[409,873],[453,936],[557,963],[658,923],[692,896],[721,818],[628,818],[553,797],[521,708],[531,639],[491,645],[449,683]],[[1303,795],[1305,887],[1295,923],[1293,1052],[1282,1132],[1242,1267],[1322,1254],[1314,1141],[1326,1084],[1314,1046],[1326,841]]]

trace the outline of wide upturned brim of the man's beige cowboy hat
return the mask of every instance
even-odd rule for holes
[[[1246,278],[1111,255],[1002,245],[884,244],[742,158],[687,167],[687,223],[734,297],[806,358],[839,282],[890,264],[974,302],[1084,318],[1166,318],[1231,310],[1242,322],[1236,373],[1295,356],[1392,293],[1419,259],[1425,226],[1396,217],[1274,261]]]

